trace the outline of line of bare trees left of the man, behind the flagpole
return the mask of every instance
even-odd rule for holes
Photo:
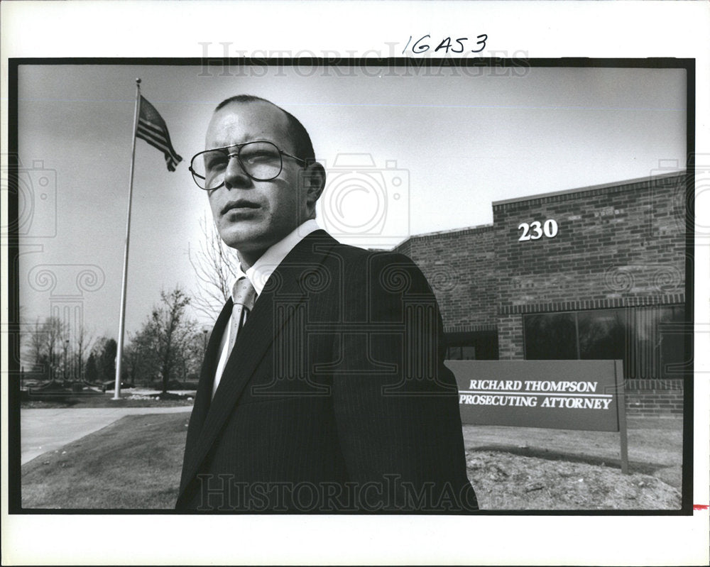
[[[187,316],[189,305],[214,319],[231,294],[239,271],[234,251],[228,248],[207,218],[200,221],[202,238],[188,250],[198,290],[192,297],[180,286],[160,292],[160,302],[141,328],[128,334],[124,346],[121,381],[126,385],[160,386],[163,392],[197,380],[207,347],[207,331]],[[82,324],[72,329],[56,316],[23,324],[21,377],[31,382],[84,382],[109,385],[116,378],[116,340],[96,337]]]

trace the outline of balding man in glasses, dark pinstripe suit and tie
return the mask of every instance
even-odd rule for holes
[[[420,270],[318,228],[325,172],[280,107],[227,99],[207,148],[190,170],[246,277],[209,338],[177,509],[476,510]]]

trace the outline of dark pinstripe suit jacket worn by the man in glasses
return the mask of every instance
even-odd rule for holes
[[[456,382],[409,258],[315,231],[268,280],[210,400],[231,299],[209,339],[178,510],[464,513]]]

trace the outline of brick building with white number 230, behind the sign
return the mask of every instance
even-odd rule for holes
[[[493,224],[413,236],[449,359],[623,360],[627,406],[682,412],[685,174],[493,203]]]

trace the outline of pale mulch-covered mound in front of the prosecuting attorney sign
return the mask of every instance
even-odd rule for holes
[[[482,510],[678,510],[679,490],[642,473],[582,462],[466,451]]]

